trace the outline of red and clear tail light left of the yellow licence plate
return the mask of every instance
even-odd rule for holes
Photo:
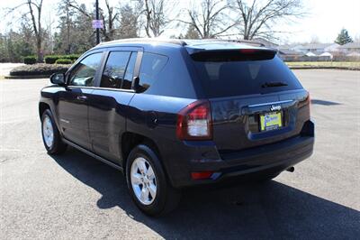
[[[178,113],[176,135],[180,140],[211,140],[209,101],[193,102]]]

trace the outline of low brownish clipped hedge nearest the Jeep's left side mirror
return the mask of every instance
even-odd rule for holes
[[[71,65],[50,65],[38,63],[33,65],[23,65],[10,71],[10,76],[50,76],[57,72],[66,72]]]

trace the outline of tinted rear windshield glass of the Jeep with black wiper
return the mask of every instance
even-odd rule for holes
[[[193,57],[207,97],[231,97],[300,89],[302,85],[277,56],[238,59]]]

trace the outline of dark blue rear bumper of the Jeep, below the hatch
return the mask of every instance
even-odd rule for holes
[[[175,149],[178,148],[174,147],[172,152],[166,152],[166,171],[175,188],[212,184],[231,178],[256,179],[281,172],[311,156],[314,145],[312,123],[311,126],[312,134],[301,134],[282,142],[221,155],[212,142],[184,142],[183,150],[177,152]],[[198,171],[214,173],[208,180],[193,180],[191,172]]]

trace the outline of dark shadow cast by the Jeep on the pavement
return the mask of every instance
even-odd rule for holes
[[[166,239],[356,239],[360,235],[356,209],[276,180],[227,189],[188,189],[174,212],[147,217],[132,203],[120,171],[73,148],[52,157],[77,180],[102,194],[98,208],[119,207]]]

